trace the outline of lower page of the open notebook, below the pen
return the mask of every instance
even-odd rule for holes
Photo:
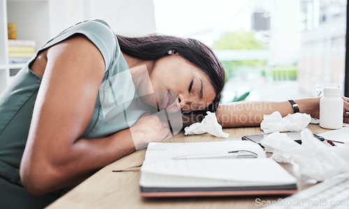
[[[185,159],[144,161],[142,173],[179,175],[241,182],[295,183],[273,159]]]

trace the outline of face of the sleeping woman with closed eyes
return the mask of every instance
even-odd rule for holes
[[[156,60],[149,77],[156,103],[148,103],[169,113],[202,110],[216,97],[209,76],[178,54]]]

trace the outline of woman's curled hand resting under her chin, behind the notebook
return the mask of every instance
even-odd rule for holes
[[[160,142],[170,134],[168,124],[156,115],[144,114],[130,128],[135,149],[138,150],[149,142]]]

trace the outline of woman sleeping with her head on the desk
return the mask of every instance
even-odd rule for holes
[[[1,208],[43,208],[103,166],[160,142],[170,129],[156,112],[179,113],[187,126],[209,110],[223,127],[294,113],[289,101],[218,104],[224,81],[214,53],[193,39],[116,36],[102,20],[66,29],[0,96]],[[318,98],[295,102],[318,117]]]

